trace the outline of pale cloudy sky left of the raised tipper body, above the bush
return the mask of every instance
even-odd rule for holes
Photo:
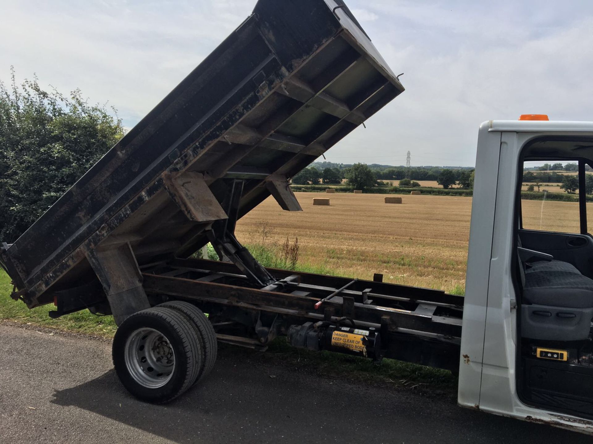
[[[60,91],[109,99],[136,124],[251,12],[238,1],[33,1],[3,6],[0,79],[37,73]]]

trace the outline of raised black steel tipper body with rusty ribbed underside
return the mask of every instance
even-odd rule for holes
[[[286,178],[403,91],[342,5],[260,0],[2,253],[27,304],[49,303],[52,288],[91,274],[85,256],[97,246],[129,242],[139,263],[195,252],[212,220],[227,216],[218,202],[229,179],[244,182],[238,217],[270,193],[297,209]],[[187,202],[171,192],[184,175],[197,184]]]

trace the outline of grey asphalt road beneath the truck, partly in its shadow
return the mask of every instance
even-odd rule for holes
[[[591,442],[447,398],[239,359],[232,348],[199,387],[152,406],[119,384],[109,341],[49,333],[0,323],[0,443]]]

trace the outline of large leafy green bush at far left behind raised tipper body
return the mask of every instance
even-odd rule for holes
[[[0,81],[0,240],[14,242],[123,137],[115,110],[81,91],[44,91]]]

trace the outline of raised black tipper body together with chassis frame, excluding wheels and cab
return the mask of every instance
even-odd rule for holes
[[[341,0],[260,0],[5,244],[13,297],[30,308],[54,302],[52,316],[113,313],[118,324],[171,298],[191,301],[211,314],[219,340],[260,347],[279,333],[307,346],[313,322],[317,333],[320,322],[362,326],[382,332],[375,359],[455,368],[463,298],[380,276],[264,269],[234,237],[238,218],[269,195],[301,211],[289,179],[402,91]],[[187,259],[207,242],[228,262]]]

